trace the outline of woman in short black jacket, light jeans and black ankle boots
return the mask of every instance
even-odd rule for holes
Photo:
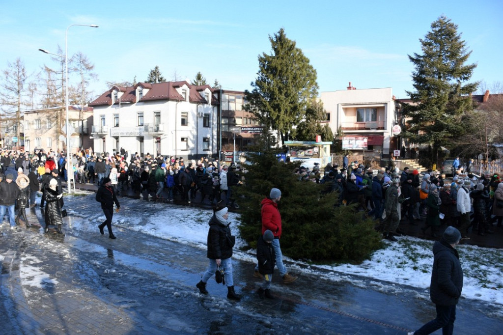
[[[227,298],[239,301],[241,296],[234,291],[234,281],[232,276],[232,247],[235,237],[230,231],[229,209],[227,206],[217,204],[213,208],[213,216],[208,222],[207,257],[209,259],[208,269],[203,273],[201,280],[196,284],[199,292],[208,294],[206,283],[215,274],[217,268],[222,268],[224,272],[223,284],[227,286]]]

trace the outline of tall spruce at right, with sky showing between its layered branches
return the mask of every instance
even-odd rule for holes
[[[425,39],[420,39],[422,54],[408,56],[414,64],[415,91],[407,92],[413,104],[405,105],[409,118],[404,136],[414,143],[432,144],[432,160],[437,161],[441,146],[464,132],[462,114],[472,110],[469,96],[477,82],[468,82],[476,64],[465,65],[471,51],[461,40],[458,26],[445,16],[431,25]]]

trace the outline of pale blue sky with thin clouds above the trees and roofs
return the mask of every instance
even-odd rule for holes
[[[391,87],[398,98],[411,90],[407,54],[421,53],[420,38],[439,16],[458,25],[478,66],[472,81],[487,87],[503,82],[503,2],[473,1],[212,1],[150,2],[0,0],[0,69],[20,57],[29,72],[55,66],[39,48],[81,51],[95,64],[99,79],[92,90],[108,90],[106,81],[144,81],[158,65],[168,80],[194,78],[210,85],[250,89],[258,55],[271,52],[269,35],[284,28],[310,59],[320,92]],[[73,81],[73,82],[72,82]],[[70,78],[70,85],[76,78]]]

